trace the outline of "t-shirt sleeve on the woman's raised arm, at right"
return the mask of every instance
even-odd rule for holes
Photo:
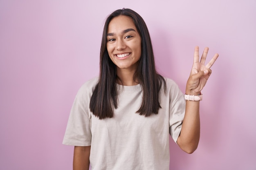
[[[170,135],[177,143],[182,128],[182,122],[185,115],[186,102],[184,94],[180,88],[173,82],[170,90],[170,112],[169,112],[169,126]]]

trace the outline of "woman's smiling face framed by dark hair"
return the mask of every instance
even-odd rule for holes
[[[120,15],[110,21],[107,50],[117,71],[137,69],[137,62],[141,57],[141,38],[132,18]]]

